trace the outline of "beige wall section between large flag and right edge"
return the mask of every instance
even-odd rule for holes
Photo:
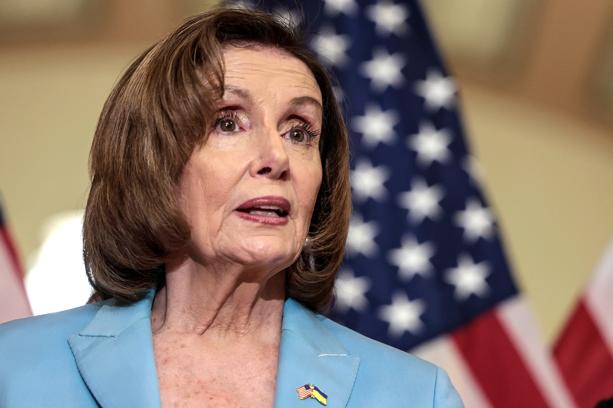
[[[479,89],[462,99],[509,260],[554,341],[613,238],[613,135]]]

